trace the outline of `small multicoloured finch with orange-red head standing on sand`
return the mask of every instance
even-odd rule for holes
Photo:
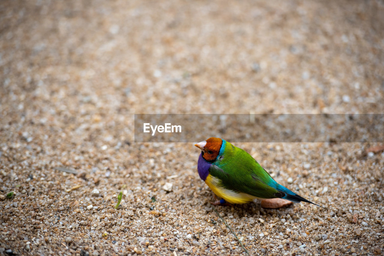
[[[217,204],[225,201],[247,203],[255,198],[283,198],[294,203],[312,203],[281,186],[250,154],[223,139],[212,137],[195,146],[202,151],[197,162],[200,178],[218,197],[223,198]]]

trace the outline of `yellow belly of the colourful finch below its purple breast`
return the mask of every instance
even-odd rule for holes
[[[228,203],[248,203],[256,198],[246,193],[236,192],[222,187],[221,180],[210,174],[205,179],[205,183],[218,197],[223,198]]]

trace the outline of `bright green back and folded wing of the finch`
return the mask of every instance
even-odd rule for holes
[[[250,154],[234,146],[226,153],[209,168],[210,175],[220,179],[223,187],[254,197],[276,198],[278,190],[268,185],[275,181]]]

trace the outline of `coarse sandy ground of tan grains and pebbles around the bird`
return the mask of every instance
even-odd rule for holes
[[[199,150],[134,143],[133,114],[382,113],[383,12],[369,0],[2,0],[0,254],[245,255],[209,204]],[[382,144],[233,144],[333,209],[215,206],[250,255],[383,255],[384,153],[368,152]]]

